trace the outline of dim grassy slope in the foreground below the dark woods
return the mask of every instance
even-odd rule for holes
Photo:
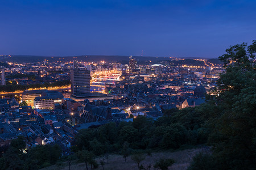
[[[151,156],[146,156],[146,159],[142,161],[142,165],[146,167],[147,165],[152,165],[150,169],[155,169],[153,165],[157,160],[160,158],[171,158],[175,160],[175,164],[173,164],[168,169],[172,170],[185,170],[188,168],[189,164],[191,163],[193,156],[198,154],[199,152],[205,152],[204,148],[195,148],[195,149],[189,149],[189,150],[182,150],[182,151],[175,151],[175,152],[154,152]],[[96,159],[98,162],[100,162],[100,159]],[[105,160],[106,162],[106,160]],[[99,163],[100,164],[100,163]],[[90,169],[90,166],[88,166]],[[55,169],[61,169],[61,170],[69,170],[68,164],[64,163],[62,167],[56,167],[56,165],[53,165],[51,167],[43,168],[42,170],[55,170]],[[71,166],[71,170],[84,170],[86,169],[85,163],[73,163]],[[97,170],[102,169],[102,166],[99,165]],[[130,156],[125,159],[121,155],[110,155],[108,158],[108,163],[104,165],[105,170],[131,170],[131,169],[138,169],[137,164],[130,159]]]

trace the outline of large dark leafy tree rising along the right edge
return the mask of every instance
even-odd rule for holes
[[[217,168],[256,167],[256,41],[231,46],[220,60],[226,73],[220,75],[214,101],[219,113],[210,118],[209,136]]]

